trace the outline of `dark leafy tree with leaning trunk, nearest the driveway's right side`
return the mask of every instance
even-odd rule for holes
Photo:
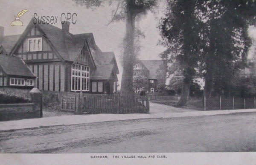
[[[162,55],[169,61],[176,60],[182,68],[183,87],[177,106],[188,101],[189,87],[193,82],[200,56],[200,37],[198,31],[201,22],[195,15],[196,0],[170,0],[167,12],[160,20],[161,44],[167,49]]]

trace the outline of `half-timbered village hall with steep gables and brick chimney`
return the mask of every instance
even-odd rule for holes
[[[102,52],[95,43],[93,33],[73,35],[69,32],[69,22],[59,29],[50,24],[33,24],[32,20],[22,35],[3,36],[4,29],[0,26],[0,87],[116,92],[119,69],[115,55],[113,52]],[[4,56],[9,56],[9,60]],[[4,63],[5,70],[15,68],[13,59],[19,65],[12,73],[20,74],[18,70],[23,68],[20,70],[27,75],[7,75],[4,72]]]

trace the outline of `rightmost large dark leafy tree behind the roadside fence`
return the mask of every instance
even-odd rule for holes
[[[233,76],[246,66],[251,45],[247,30],[255,17],[255,2],[205,0],[197,9],[203,23],[200,70],[205,80],[204,95],[209,98],[212,91],[230,94]]]

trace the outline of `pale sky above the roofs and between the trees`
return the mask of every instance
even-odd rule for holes
[[[86,9],[84,6],[78,6],[72,0],[0,0],[0,26],[4,27],[4,35],[22,34],[29,21],[37,13],[38,16],[58,16],[57,26],[61,28],[62,13],[76,13],[74,16],[76,24],[70,24],[70,33],[89,33],[92,32],[96,44],[103,52],[114,52],[120,74],[118,75],[119,84],[122,78],[122,65],[120,57],[122,55],[121,43],[125,36],[125,22],[112,22],[106,26],[111,20],[111,10],[113,6],[105,5],[96,8],[96,10]],[[4,7],[3,7],[4,6]],[[27,9],[28,12],[20,17],[23,26],[9,26],[15,20],[14,16]],[[163,46],[157,46],[160,39],[159,30],[157,29],[158,20],[155,15],[148,12],[147,16],[140,20],[140,29],[144,32],[145,38],[141,39],[141,51],[138,56],[140,59],[160,59],[159,54],[165,50]]]

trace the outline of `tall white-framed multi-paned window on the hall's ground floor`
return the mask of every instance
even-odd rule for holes
[[[90,68],[72,64],[71,91],[89,91]]]

